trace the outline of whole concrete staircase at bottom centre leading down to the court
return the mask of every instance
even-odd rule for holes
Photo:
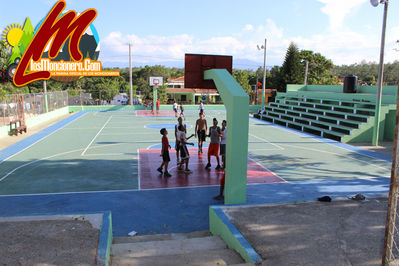
[[[208,231],[114,238],[111,265],[253,265]]]

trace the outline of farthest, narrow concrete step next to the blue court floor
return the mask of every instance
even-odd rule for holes
[[[129,236],[129,237],[114,237],[112,239],[113,244],[119,243],[136,243],[136,242],[148,242],[157,240],[177,240],[187,239],[196,237],[211,236],[209,231],[196,231],[186,234],[159,234],[159,235],[144,235],[144,236]]]

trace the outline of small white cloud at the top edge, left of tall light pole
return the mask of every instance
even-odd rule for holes
[[[330,19],[330,30],[337,30],[343,26],[346,15],[353,12],[368,0],[317,0],[323,3],[321,11]]]

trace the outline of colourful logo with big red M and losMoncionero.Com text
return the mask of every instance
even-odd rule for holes
[[[117,71],[102,71],[97,61],[100,40],[92,24],[95,9],[81,14],[63,12],[64,0],[58,1],[36,30],[29,17],[24,26],[8,26],[2,40],[11,50],[7,75],[16,86],[53,78],[73,81],[82,76],[119,76]]]

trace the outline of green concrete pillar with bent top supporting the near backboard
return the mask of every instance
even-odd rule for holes
[[[249,97],[225,69],[204,72],[212,79],[227,111],[225,204],[246,202]]]

